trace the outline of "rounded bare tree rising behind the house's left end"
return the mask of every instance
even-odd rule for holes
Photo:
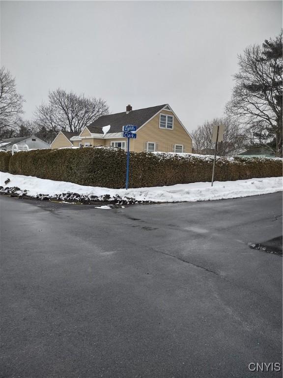
[[[98,117],[109,113],[105,100],[76,95],[58,88],[49,92],[48,104],[41,104],[35,112],[38,125],[51,130],[80,132]]]

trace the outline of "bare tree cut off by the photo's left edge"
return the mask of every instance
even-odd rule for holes
[[[5,67],[0,68],[0,134],[17,125],[23,113],[23,101],[11,73]]]

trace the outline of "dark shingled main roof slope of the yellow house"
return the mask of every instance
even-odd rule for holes
[[[152,118],[157,112],[163,109],[167,104],[152,106],[150,108],[131,110],[128,114],[126,112],[109,114],[101,116],[92,124],[87,126],[92,133],[101,134],[102,127],[111,125],[109,132],[120,132],[122,127],[126,125],[135,125],[141,127],[146,121]]]

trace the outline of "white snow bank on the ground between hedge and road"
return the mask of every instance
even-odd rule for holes
[[[5,181],[10,182],[5,184]],[[56,197],[60,195],[62,200],[73,200],[74,196],[65,196],[62,193],[77,193],[89,200],[113,201],[117,198],[127,202],[129,198],[135,201],[151,202],[195,202],[226,198],[247,197],[251,195],[274,193],[282,190],[282,177],[270,177],[261,179],[216,181],[211,183],[177,184],[164,187],[137,188],[137,189],[109,189],[100,187],[87,187],[64,181],[52,181],[39,179],[32,176],[12,175],[0,172],[0,186],[2,191],[9,187],[18,187],[17,194],[40,198]],[[104,196],[107,195],[107,198]]]

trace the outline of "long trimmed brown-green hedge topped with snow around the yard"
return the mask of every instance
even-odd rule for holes
[[[212,164],[213,157],[211,156],[132,152],[129,187],[154,187],[210,181]],[[0,153],[0,167],[1,171],[42,179],[123,188],[126,175],[126,153],[112,148],[33,150],[18,152],[13,156]],[[281,175],[282,159],[217,158],[215,168],[215,181]]]

